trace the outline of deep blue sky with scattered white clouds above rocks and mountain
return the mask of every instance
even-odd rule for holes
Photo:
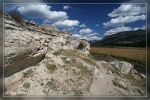
[[[144,29],[145,4],[5,4],[5,11],[16,10],[27,20],[51,24],[73,36],[99,40],[121,31]]]

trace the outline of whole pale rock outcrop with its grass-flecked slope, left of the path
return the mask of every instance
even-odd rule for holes
[[[88,94],[96,64],[87,41],[9,15],[4,22],[5,95]]]

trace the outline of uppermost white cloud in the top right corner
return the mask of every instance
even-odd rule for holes
[[[108,14],[110,17],[118,16],[135,16],[146,13],[145,5],[141,4],[122,4],[117,9],[114,9],[111,13]]]

